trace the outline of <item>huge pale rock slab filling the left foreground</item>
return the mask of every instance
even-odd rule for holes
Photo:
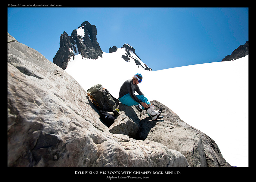
[[[8,167],[187,167],[161,143],[112,134],[86,91],[8,34]]]

